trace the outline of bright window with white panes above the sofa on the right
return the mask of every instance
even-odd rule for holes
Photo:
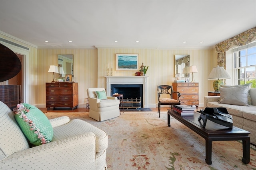
[[[256,43],[233,49],[235,82],[238,85],[252,83],[256,88]]]

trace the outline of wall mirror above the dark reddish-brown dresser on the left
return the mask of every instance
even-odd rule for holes
[[[62,67],[64,73],[61,77],[65,77],[66,74],[72,74],[74,77],[74,66],[73,66],[74,56],[72,54],[58,54],[58,67]]]

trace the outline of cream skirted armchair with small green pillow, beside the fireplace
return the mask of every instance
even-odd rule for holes
[[[87,95],[90,104],[89,117],[104,121],[120,116],[119,103],[116,97],[106,96],[106,100],[97,98],[95,91],[105,91],[104,88],[88,88]]]

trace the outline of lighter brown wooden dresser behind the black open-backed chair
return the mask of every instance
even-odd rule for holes
[[[199,83],[192,82],[174,82],[172,83],[173,90],[180,92],[180,104],[188,106],[199,105]],[[178,100],[177,94],[174,93],[173,98]]]

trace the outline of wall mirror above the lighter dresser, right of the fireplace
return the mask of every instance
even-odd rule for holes
[[[183,68],[190,66],[190,55],[175,55],[175,74],[180,73],[182,77],[189,77],[189,73],[184,74]]]

